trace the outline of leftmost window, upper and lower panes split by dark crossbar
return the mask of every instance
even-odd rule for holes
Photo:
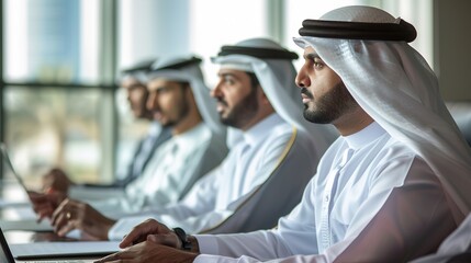
[[[2,18],[2,139],[18,172],[33,188],[56,165],[77,182],[108,180],[114,93],[100,71],[100,1],[5,0]]]

